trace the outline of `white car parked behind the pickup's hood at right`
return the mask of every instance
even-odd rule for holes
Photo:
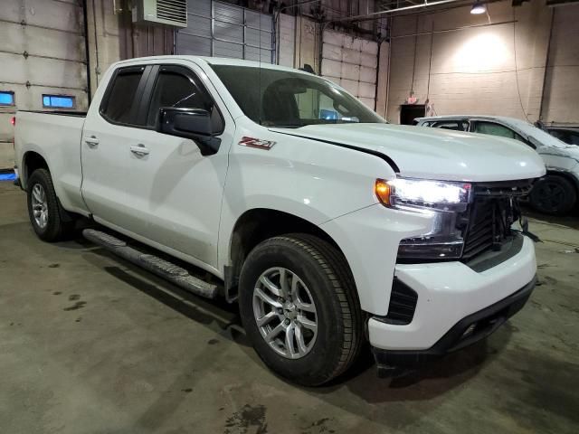
[[[452,115],[417,118],[418,127],[433,127],[514,138],[532,147],[543,158],[546,175],[529,194],[539,212],[565,214],[577,203],[579,192],[579,146],[568,145],[540,128],[516,118]]]

